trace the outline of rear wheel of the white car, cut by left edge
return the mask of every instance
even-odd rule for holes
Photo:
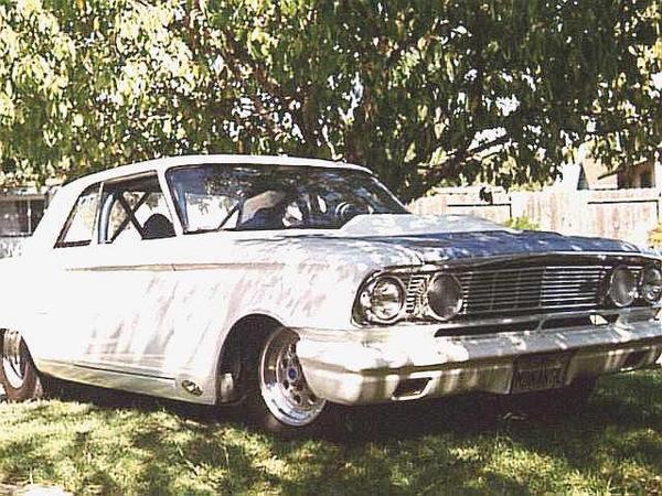
[[[25,342],[18,331],[4,331],[0,341],[0,384],[9,401],[44,396],[44,388]]]

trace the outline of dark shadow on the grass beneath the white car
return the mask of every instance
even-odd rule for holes
[[[662,377],[662,373],[658,377]],[[504,430],[523,433],[564,428],[573,432],[599,434],[616,425],[620,429],[662,432],[662,380],[651,380],[650,375],[637,374],[602,380],[608,380],[609,387],[598,387],[588,406],[579,411],[568,406],[568,416],[563,414],[562,408],[560,414],[511,417],[504,411],[503,398],[477,393],[370,407],[338,407],[343,428],[340,432],[321,434],[320,439],[345,446],[360,446],[369,442],[397,442],[439,433],[477,435]],[[238,409],[228,407],[185,403],[72,384],[58,384],[54,398],[88,402],[109,414],[118,409],[141,412],[164,410],[180,419],[206,425],[229,423],[253,430]],[[31,414],[39,416],[46,410],[47,405],[41,405]]]

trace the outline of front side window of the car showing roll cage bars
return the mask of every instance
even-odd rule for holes
[[[99,242],[174,236],[172,217],[156,174],[104,184]]]

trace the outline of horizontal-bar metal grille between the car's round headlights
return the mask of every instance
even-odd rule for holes
[[[451,271],[462,284],[460,315],[508,316],[537,312],[591,310],[600,304],[602,280],[610,266],[534,266]],[[639,277],[641,267],[629,267]],[[406,278],[406,311],[415,314],[424,304],[433,273]]]

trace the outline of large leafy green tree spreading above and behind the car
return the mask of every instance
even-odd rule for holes
[[[163,154],[365,164],[404,198],[662,139],[654,0],[24,0],[0,7],[11,175]],[[656,75],[656,76],[655,76]]]

